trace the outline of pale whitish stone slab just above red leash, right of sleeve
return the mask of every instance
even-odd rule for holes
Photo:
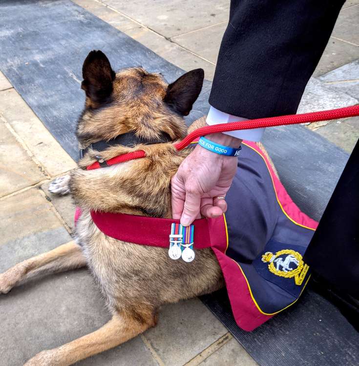
[[[350,95],[311,78],[300,101],[298,113],[340,108],[357,103],[358,100]]]

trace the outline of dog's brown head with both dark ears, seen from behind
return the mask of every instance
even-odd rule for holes
[[[83,65],[81,87],[85,109],[77,126],[82,147],[110,140],[129,131],[155,139],[167,133],[174,141],[186,133],[183,116],[190,113],[203,84],[202,69],[192,70],[168,84],[161,74],[142,67],[115,73],[106,55],[91,51]]]

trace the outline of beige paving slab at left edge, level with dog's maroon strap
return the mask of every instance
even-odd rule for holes
[[[38,188],[5,197],[0,204],[0,245],[62,227]]]

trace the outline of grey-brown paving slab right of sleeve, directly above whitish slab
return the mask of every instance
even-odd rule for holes
[[[357,59],[359,59],[359,47],[331,37],[313,76],[326,74]]]

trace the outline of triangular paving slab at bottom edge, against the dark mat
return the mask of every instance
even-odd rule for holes
[[[224,346],[212,353],[200,363],[201,366],[256,366],[257,363],[248,352],[235,340],[231,339]]]

